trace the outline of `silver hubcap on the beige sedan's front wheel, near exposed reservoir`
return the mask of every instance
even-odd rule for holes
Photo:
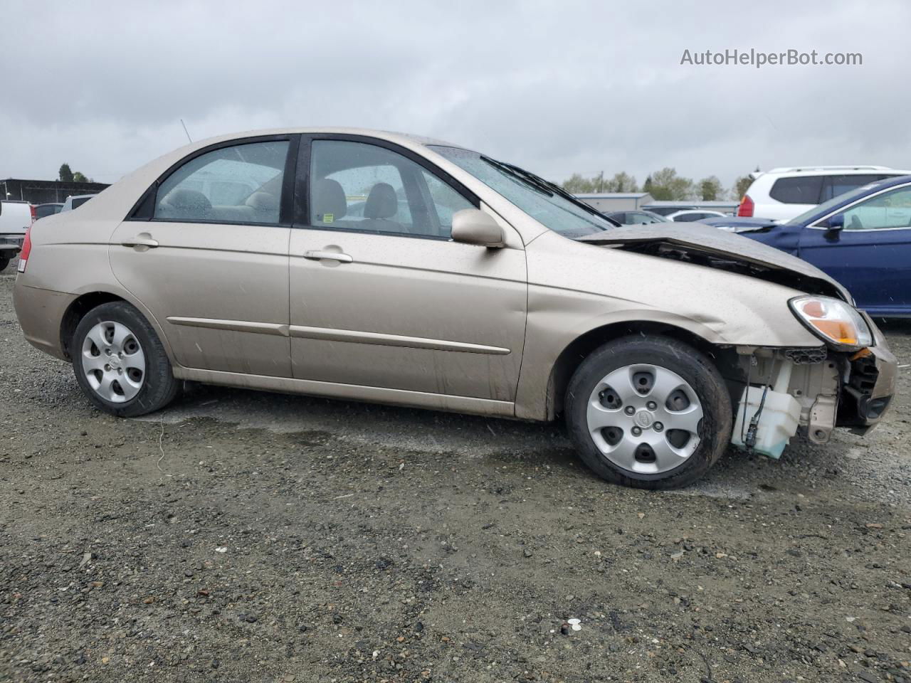
[[[696,451],[702,405],[679,374],[641,363],[598,382],[589,396],[587,419],[592,441],[611,463],[659,474]]]

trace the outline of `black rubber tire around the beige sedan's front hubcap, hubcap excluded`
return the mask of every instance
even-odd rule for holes
[[[588,427],[589,396],[609,372],[649,363],[689,382],[702,407],[700,441],[682,464],[658,474],[633,472],[612,463],[593,441]],[[686,486],[705,474],[731,443],[731,396],[715,365],[690,345],[660,336],[623,337],[601,346],[581,362],[567,388],[565,413],[570,438],[582,462],[613,484],[646,489]]]

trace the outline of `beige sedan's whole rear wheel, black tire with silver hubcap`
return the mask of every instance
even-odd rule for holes
[[[82,391],[121,417],[152,413],[179,392],[168,355],[145,317],[126,301],[104,303],[79,321],[70,346]]]

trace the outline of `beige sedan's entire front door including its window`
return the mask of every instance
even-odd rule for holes
[[[383,394],[404,403],[513,402],[527,310],[517,233],[507,227],[496,250],[451,241],[453,214],[477,199],[429,162],[374,138],[305,141],[290,250],[294,377],[353,397],[425,394]]]

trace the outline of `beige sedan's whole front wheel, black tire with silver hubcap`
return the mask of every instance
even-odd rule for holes
[[[691,484],[731,439],[731,399],[701,352],[662,337],[625,337],[591,353],[569,382],[569,433],[583,462],[614,484]]]

